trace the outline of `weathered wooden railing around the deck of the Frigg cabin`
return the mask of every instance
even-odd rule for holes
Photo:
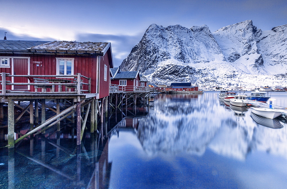
[[[10,75],[9,73],[5,73],[2,72],[1,74],[1,78],[2,80],[1,85],[2,85],[2,90],[1,90],[1,95],[5,96],[6,92],[7,93],[35,93],[35,94],[42,94],[42,93],[60,93],[60,94],[82,94],[85,92],[91,93],[91,78],[88,78],[86,76],[81,75],[80,73],[77,73],[77,75]],[[11,82],[11,80],[7,80],[7,78],[11,78],[11,77],[24,77],[30,80],[30,83],[15,83],[15,82]],[[50,82],[50,83],[34,83],[31,78],[55,78],[55,79],[65,79],[67,77],[69,78],[74,78],[74,80],[71,80],[71,82],[69,83],[61,83],[61,82]],[[88,80],[88,83],[84,83],[83,78],[86,78]],[[49,80],[49,79],[48,79]],[[3,84],[5,83],[5,84]],[[69,87],[69,86],[75,86],[73,88],[75,88],[75,91],[50,91],[50,92],[34,92],[34,91],[15,91],[15,90],[7,90],[7,86],[38,86],[39,88],[41,86],[45,87],[45,86],[65,86]],[[84,90],[83,86],[87,85],[88,86],[88,90]],[[85,87],[87,88],[87,87]]]

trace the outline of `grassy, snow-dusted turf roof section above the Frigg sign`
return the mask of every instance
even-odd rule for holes
[[[102,51],[107,44],[108,43],[102,42],[53,41],[51,43],[31,47],[30,49]]]

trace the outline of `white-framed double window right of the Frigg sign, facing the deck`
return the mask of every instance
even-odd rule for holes
[[[56,58],[56,59],[57,59],[57,75],[74,74],[74,58]]]

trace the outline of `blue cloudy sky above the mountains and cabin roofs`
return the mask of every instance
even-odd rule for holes
[[[153,23],[211,32],[245,20],[287,24],[286,0],[0,0],[0,39],[111,42],[115,67]]]

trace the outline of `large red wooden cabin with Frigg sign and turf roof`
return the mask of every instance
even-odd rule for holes
[[[81,73],[91,78],[90,92],[96,93],[97,99],[109,95],[108,70],[113,68],[110,43],[0,40],[0,63],[0,72],[11,75],[63,75],[73,80],[69,75]],[[11,82],[33,81],[12,77]],[[83,78],[83,82],[88,79]],[[8,85],[7,90],[34,91],[34,87]],[[83,90],[88,86],[83,85]]]

